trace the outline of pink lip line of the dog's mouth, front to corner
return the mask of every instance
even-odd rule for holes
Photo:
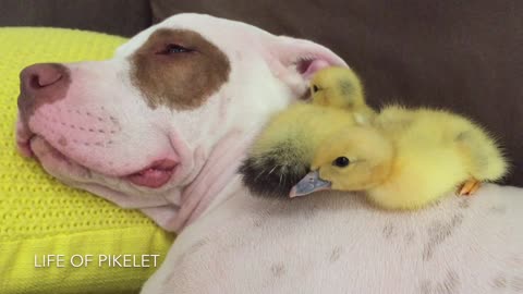
[[[71,157],[64,155],[59,149],[57,149],[52,144],[50,144],[44,136],[37,135],[33,132],[27,132],[27,130],[17,130],[17,149],[19,151],[26,157],[32,157],[37,160],[44,161],[39,158],[38,154],[46,155],[46,160],[52,160],[53,167],[65,167],[70,173],[88,173],[89,168],[78,163]],[[37,144],[38,146],[35,146]],[[39,148],[39,151],[35,150]],[[179,162],[172,159],[160,159],[155,160],[151,163],[147,164],[145,168],[122,175],[106,174],[104,172],[97,171],[98,173],[105,174],[107,176],[118,177],[136,186],[149,187],[149,188],[159,188],[167,184],[174,172],[178,170]],[[73,172],[73,170],[75,172]]]

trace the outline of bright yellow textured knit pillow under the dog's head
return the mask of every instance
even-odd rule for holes
[[[107,59],[124,41],[121,37],[72,29],[0,28],[2,294],[137,292],[157,269],[153,255],[160,255],[159,266],[173,241],[173,235],[141,212],[120,209],[89,193],[68,187],[15,150],[20,71],[36,62]],[[63,267],[58,268],[56,262],[42,267],[47,255],[63,255]],[[93,255],[87,257],[93,262],[74,267],[86,255]],[[109,255],[131,256],[117,259],[122,267],[113,264],[115,267],[109,268],[109,259],[99,267],[99,260]],[[126,265],[131,267],[123,267],[123,258],[131,260]],[[142,267],[143,258],[149,259],[148,268]]]

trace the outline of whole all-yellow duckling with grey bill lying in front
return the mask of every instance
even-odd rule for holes
[[[502,177],[508,164],[496,142],[463,117],[439,110],[385,108],[373,123],[342,130],[317,149],[291,191],[364,191],[386,209],[418,209],[460,185]]]

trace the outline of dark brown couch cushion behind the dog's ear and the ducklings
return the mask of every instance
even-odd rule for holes
[[[451,109],[499,137],[523,186],[523,1],[153,0],[156,21],[200,12],[333,49],[373,106]]]

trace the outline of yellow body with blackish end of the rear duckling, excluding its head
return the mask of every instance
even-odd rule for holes
[[[240,167],[243,183],[258,196],[287,197],[311,170],[319,144],[354,125],[345,110],[297,103],[278,113]]]

